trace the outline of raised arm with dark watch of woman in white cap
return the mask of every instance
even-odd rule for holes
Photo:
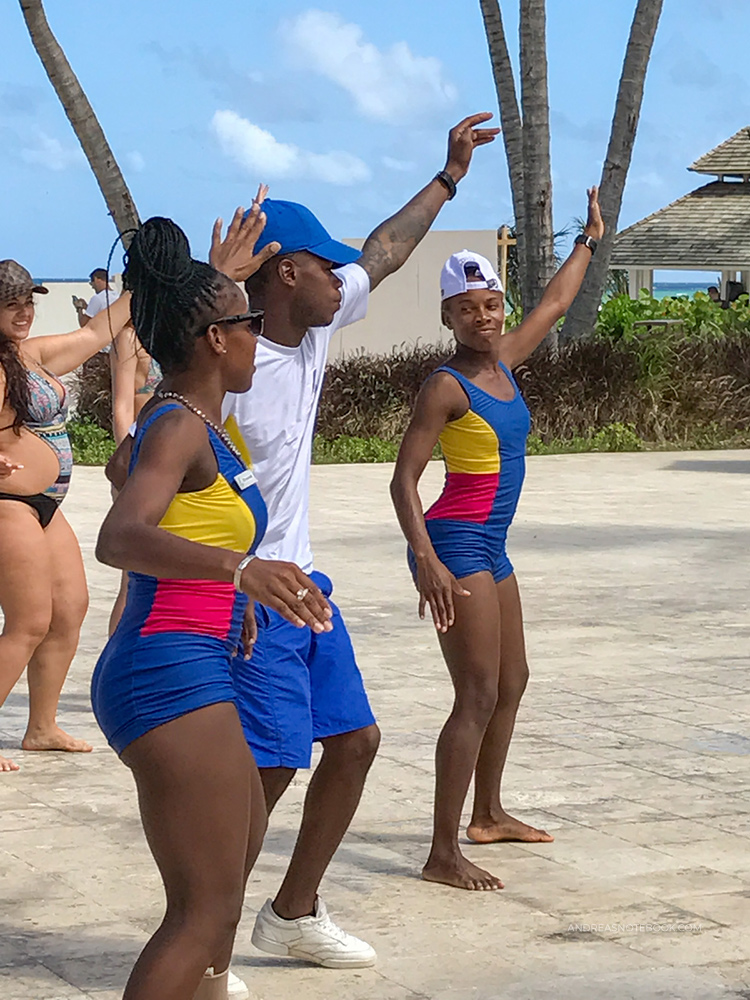
[[[600,240],[604,235],[604,222],[599,208],[599,189],[589,188],[587,193],[589,209],[584,234],[593,240]],[[571,255],[547,285],[536,309],[502,338],[500,360],[508,368],[515,368],[525,361],[565,315],[578,294],[590,261],[591,250],[587,246],[578,244],[573,247]]]

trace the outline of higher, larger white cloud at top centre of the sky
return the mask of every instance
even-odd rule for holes
[[[286,21],[282,30],[295,64],[343,87],[366,118],[411,120],[456,100],[439,59],[415,55],[406,42],[381,51],[365,41],[359,25],[337,14],[308,10]]]

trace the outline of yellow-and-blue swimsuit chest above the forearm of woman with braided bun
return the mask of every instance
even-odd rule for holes
[[[134,469],[148,428],[170,410],[182,409],[166,403],[149,413],[136,429],[130,457]],[[265,534],[268,513],[255,476],[206,425],[216,457],[216,479],[202,490],[177,493],[164,513],[159,527],[173,535],[235,552],[254,552]]]

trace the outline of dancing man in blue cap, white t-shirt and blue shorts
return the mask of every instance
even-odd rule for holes
[[[271,243],[280,250],[246,283],[251,305],[265,310],[265,332],[252,388],[227,397],[226,425],[246,449],[268,505],[258,555],[297,563],[327,596],[331,581],[313,569],[308,504],[328,345],[336,330],[365,316],[370,291],[401,267],[456,193],[474,148],[499,131],[478,127],[491,117],[474,115],[451,131],[445,169],[371,233],[361,254],[331,239],[302,205],[271,199],[263,205],[267,221],[255,251]],[[241,256],[232,257],[228,237],[215,243],[211,263],[242,280]],[[333,923],[317,890],[359,803],[380,732],[346,627],[332,608],[333,630],[316,635],[257,606],[253,655],[236,658],[234,675],[269,812],[295,771],[310,766],[313,742],[323,746],[289,869],[258,914],[253,943],[274,955],[356,968],[372,965],[375,952]]]

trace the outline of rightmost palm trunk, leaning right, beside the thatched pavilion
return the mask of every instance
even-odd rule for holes
[[[641,114],[646,72],[662,6],[663,0],[638,0],[635,9],[599,188],[599,202],[606,231],[565,318],[562,336],[566,339],[586,336],[596,323],[607,283],[612,245],[617,233],[622,196]]]

